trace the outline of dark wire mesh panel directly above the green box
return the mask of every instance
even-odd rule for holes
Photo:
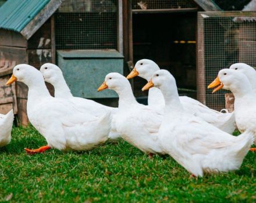
[[[66,0],[55,14],[56,49],[116,49],[116,0]]]

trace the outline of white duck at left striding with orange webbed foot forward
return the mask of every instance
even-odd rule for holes
[[[27,153],[41,153],[48,148],[58,150],[89,150],[108,139],[110,113],[98,118],[80,110],[73,103],[52,97],[40,71],[27,64],[13,68],[6,83],[20,81],[29,87],[27,115],[31,124],[47,140],[48,145]]]

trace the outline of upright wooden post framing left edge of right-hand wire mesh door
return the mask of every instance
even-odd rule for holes
[[[205,104],[205,66],[204,66],[204,23],[200,13],[197,14],[197,100]]]

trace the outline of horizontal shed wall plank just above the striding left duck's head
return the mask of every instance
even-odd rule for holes
[[[0,46],[0,60],[16,61],[16,64],[27,63],[27,49]]]

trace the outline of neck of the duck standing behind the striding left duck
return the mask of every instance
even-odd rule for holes
[[[69,98],[73,97],[70,92],[69,86],[67,86],[65,79],[62,77],[54,84],[54,96],[56,98]]]

